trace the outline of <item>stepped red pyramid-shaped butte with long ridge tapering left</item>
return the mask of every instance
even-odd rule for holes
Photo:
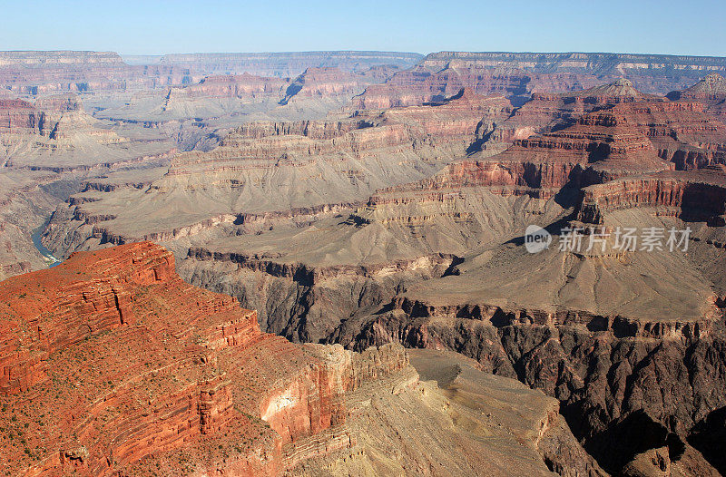
[[[672,165],[656,155],[648,137],[611,112],[592,112],[561,131],[517,139],[491,157],[476,154],[456,161],[415,184],[381,190],[456,190],[495,187],[498,193],[529,194],[548,199],[566,184],[584,187],[633,173],[668,170]],[[373,203],[380,200],[374,196]]]

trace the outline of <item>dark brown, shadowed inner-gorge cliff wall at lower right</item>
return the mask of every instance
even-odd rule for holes
[[[354,343],[392,340],[456,350],[496,375],[542,389],[560,400],[575,435],[608,472],[620,472],[635,454],[662,446],[672,462],[683,459],[688,467],[695,455],[695,469],[712,471],[700,453],[683,449],[690,449],[694,425],[726,399],[719,371],[726,359],[722,333],[693,334],[692,328],[639,339],[623,334],[623,324],[538,325],[534,314],[509,321],[476,316],[477,309],[485,307],[402,303],[364,327]]]

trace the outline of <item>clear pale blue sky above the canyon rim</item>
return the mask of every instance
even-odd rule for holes
[[[0,50],[306,50],[726,56],[723,0],[0,0]]]

